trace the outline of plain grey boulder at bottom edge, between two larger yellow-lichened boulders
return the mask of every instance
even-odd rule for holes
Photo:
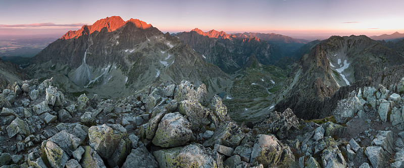
[[[145,168],[155,168],[158,167],[158,162],[155,157],[147,151],[145,147],[138,147],[132,149],[132,152],[126,158],[123,163],[122,168],[131,167],[145,167]]]

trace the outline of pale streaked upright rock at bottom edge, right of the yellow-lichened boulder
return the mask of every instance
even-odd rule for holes
[[[346,167],[346,161],[341,154],[341,151],[336,146],[330,146],[323,150],[321,154],[321,159],[323,161],[323,167]]]

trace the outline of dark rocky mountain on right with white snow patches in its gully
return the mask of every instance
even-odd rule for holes
[[[304,119],[327,116],[319,108],[327,106],[326,99],[338,89],[403,63],[397,51],[366,36],[332,36],[293,65],[279,93],[276,110],[290,107]]]

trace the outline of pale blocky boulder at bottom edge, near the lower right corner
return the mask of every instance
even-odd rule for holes
[[[372,163],[374,168],[384,167],[384,163],[387,161],[387,153],[380,146],[369,146],[365,151],[366,156]]]

